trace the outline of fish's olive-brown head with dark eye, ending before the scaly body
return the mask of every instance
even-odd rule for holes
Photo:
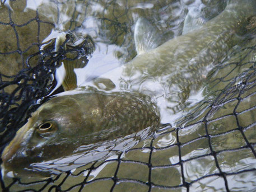
[[[80,99],[80,98],[77,98]],[[80,104],[68,96],[54,97],[32,113],[2,153],[6,170],[17,170],[19,166],[29,167],[31,163],[53,160],[68,156],[81,143],[82,136],[93,132],[94,119],[100,118],[99,101],[92,95],[87,99],[82,113]],[[97,111],[92,115],[91,111]],[[81,137],[80,137],[81,136]]]

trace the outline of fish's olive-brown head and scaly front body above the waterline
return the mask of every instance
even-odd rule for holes
[[[156,127],[157,115],[151,104],[128,94],[54,97],[31,115],[4,149],[4,169],[24,171],[33,163],[68,157],[80,146],[113,141],[150,125]]]

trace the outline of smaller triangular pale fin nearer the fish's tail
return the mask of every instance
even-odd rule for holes
[[[202,17],[194,17],[190,14],[190,12],[188,12],[184,20],[182,35],[195,29],[200,29],[204,23],[206,23],[206,20],[204,20]]]

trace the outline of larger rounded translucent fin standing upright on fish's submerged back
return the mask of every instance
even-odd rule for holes
[[[145,18],[139,18],[135,25],[134,41],[137,54],[154,49],[161,43],[159,30]]]

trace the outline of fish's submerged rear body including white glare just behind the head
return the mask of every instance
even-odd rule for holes
[[[207,73],[244,41],[248,18],[256,15],[253,0],[230,1],[225,10],[200,29],[178,36],[159,47],[137,55],[131,62],[102,77],[110,78],[117,90],[151,95],[160,106],[162,123],[195,94]],[[113,74],[121,74],[115,77]]]

